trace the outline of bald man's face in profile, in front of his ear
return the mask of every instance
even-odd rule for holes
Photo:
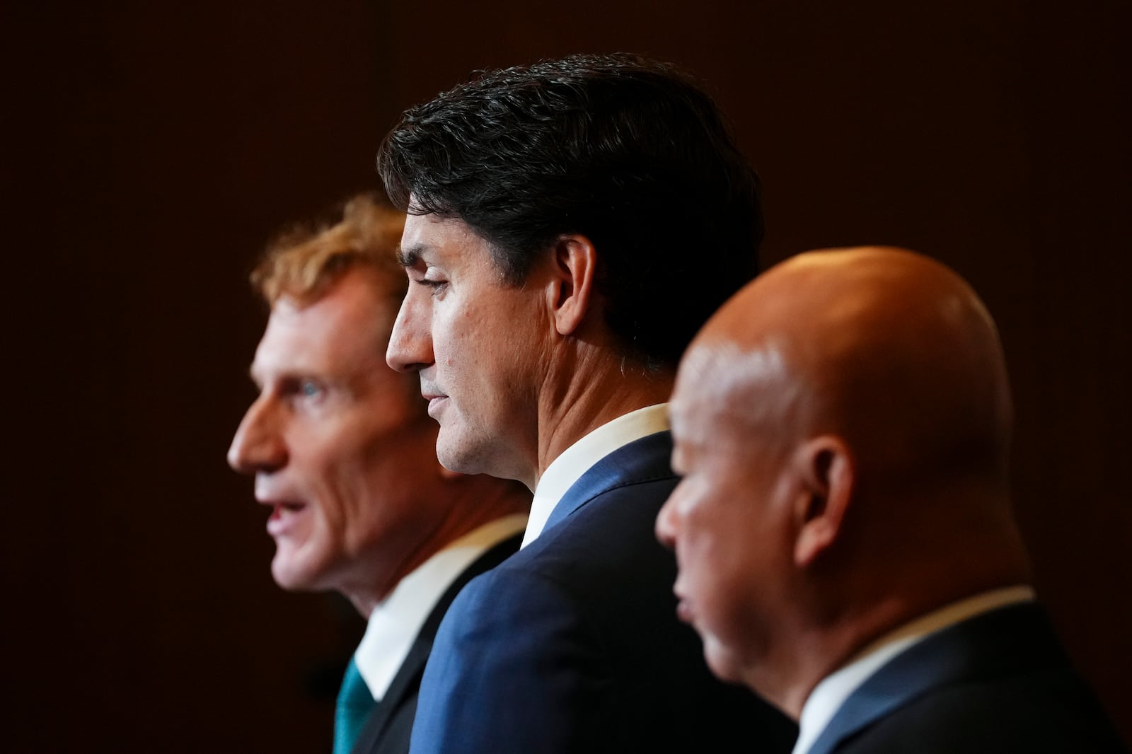
[[[766,431],[773,422],[737,405],[771,401],[771,393],[736,392],[737,367],[726,350],[705,346],[693,346],[680,365],[669,411],[681,479],[657,517],[657,537],[676,552],[677,614],[703,639],[712,672],[749,685],[769,642],[766,616],[789,599],[783,556],[797,488],[780,438]]]

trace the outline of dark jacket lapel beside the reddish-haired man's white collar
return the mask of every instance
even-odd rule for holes
[[[366,720],[366,726],[354,743],[352,754],[376,751],[375,747],[385,734],[394,713],[408,703],[417,703],[417,692],[420,689],[421,676],[424,674],[429,652],[432,651],[432,640],[436,639],[436,631],[440,626],[444,614],[448,611],[448,606],[469,581],[514,555],[522,541],[522,534],[516,534],[495,545],[456,576],[456,580],[440,596],[436,607],[432,608],[421,626],[420,633],[417,634],[417,640],[413,641],[409,654],[405,656],[405,661],[401,663],[397,675],[393,677],[388,691]]]

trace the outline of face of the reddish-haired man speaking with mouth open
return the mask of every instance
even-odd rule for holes
[[[271,508],[284,589],[381,594],[446,514],[435,427],[385,363],[385,290],[358,267],[308,306],[283,298],[256,350],[259,396],[228,459]]]

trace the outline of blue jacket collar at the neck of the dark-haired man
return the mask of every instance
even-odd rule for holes
[[[654,432],[628,445],[624,445],[601,461],[590,466],[574,485],[566,490],[563,499],[547,519],[543,531],[561,522],[593,498],[617,487],[651,481],[653,479],[670,479],[672,469],[669,459],[672,455],[672,435],[668,431]]]

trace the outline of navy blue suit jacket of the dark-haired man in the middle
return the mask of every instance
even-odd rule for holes
[[[606,456],[542,534],[453,602],[424,670],[414,754],[789,752],[777,710],[715,680],[676,618],[653,523],[677,479],[659,432]]]

